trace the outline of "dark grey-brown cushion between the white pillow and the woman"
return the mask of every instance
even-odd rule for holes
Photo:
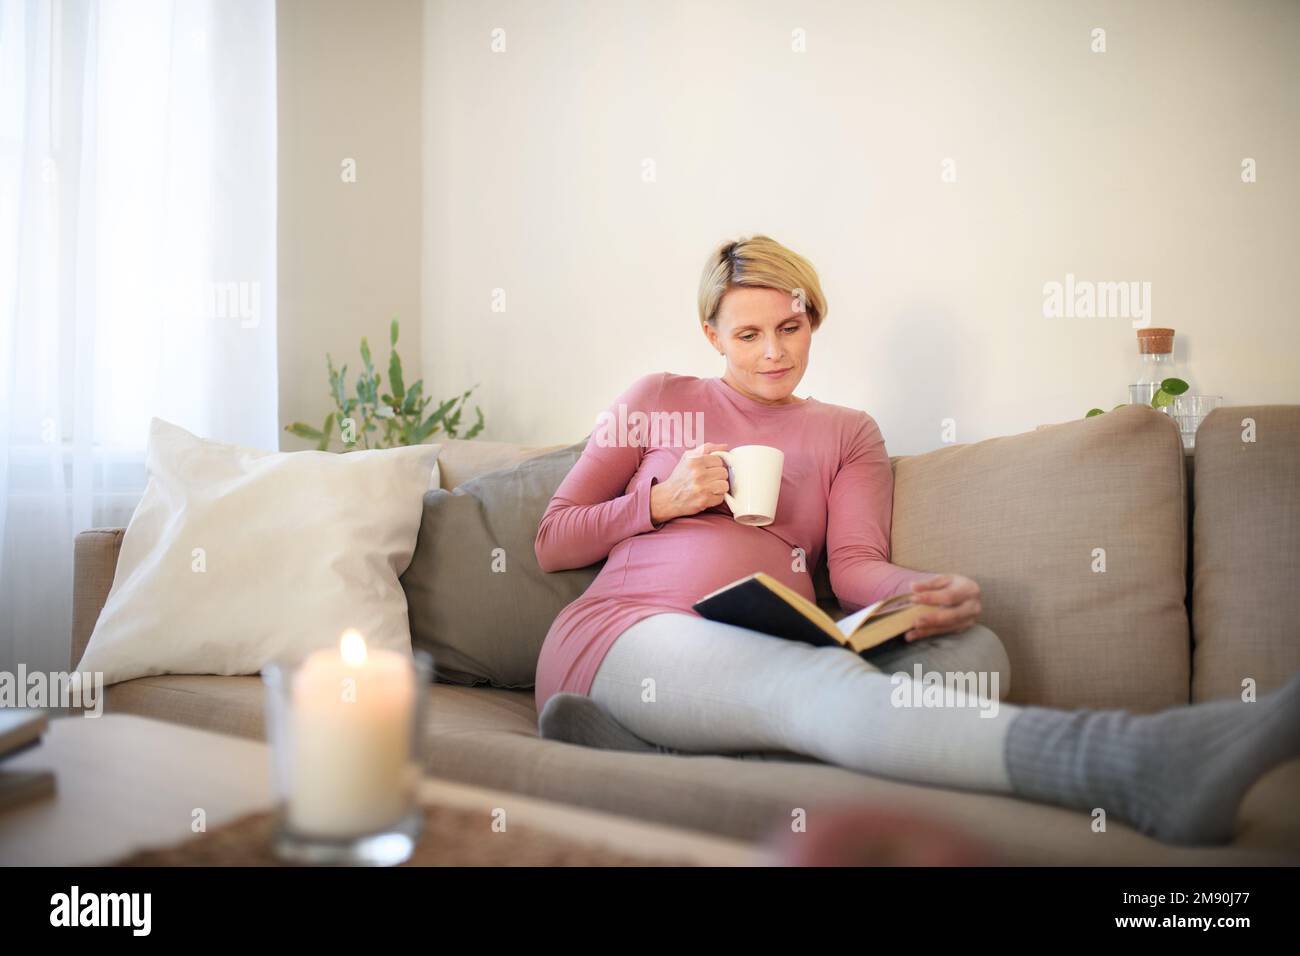
[[[534,551],[542,512],[585,447],[586,438],[425,494],[402,585],[412,645],[433,656],[437,680],[533,685],[551,623],[604,564],[547,574]]]

